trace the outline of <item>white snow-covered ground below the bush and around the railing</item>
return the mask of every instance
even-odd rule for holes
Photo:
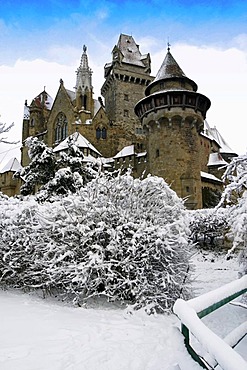
[[[192,259],[195,295],[237,278],[236,259],[211,253],[196,253]],[[246,315],[243,308],[227,305],[203,320],[224,337]],[[74,308],[0,290],[0,322],[1,370],[176,370],[177,363],[181,370],[199,369],[184,348],[173,315],[129,314],[106,304]]]

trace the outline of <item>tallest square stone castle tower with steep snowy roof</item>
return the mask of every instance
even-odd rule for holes
[[[111,125],[124,131],[118,150],[132,143],[145,147],[145,136],[134,106],[144,96],[150,76],[150,55],[142,55],[132,36],[121,34],[112,50],[112,62],[104,67],[105,82],[101,88],[105,111]]]

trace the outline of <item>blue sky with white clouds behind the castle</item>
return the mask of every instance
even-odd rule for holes
[[[97,98],[120,33],[151,54],[154,76],[169,40],[180,67],[211,100],[210,126],[246,153],[246,0],[1,1],[0,122],[15,123],[9,138],[21,140],[25,99],[30,104],[44,86],[55,98],[60,78],[73,89],[83,44]],[[0,162],[13,156],[20,158],[18,145],[0,143]]]

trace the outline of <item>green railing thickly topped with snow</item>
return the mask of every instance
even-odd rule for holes
[[[247,292],[247,275],[199,297],[188,301],[178,299],[175,302],[173,312],[181,320],[181,331],[185,337],[187,350],[203,368],[214,368],[216,364],[219,364],[224,370],[247,369],[246,361],[232,348],[246,335],[246,323],[234,329],[223,340],[200,320],[245,292]],[[189,333],[194,335],[204,350],[210,355],[211,360],[214,362],[213,367],[208,367],[207,361],[192,348]]]

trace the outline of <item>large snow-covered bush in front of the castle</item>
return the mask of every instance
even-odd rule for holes
[[[62,201],[0,202],[1,284],[149,312],[186,297],[187,216],[163,179],[108,174]]]

